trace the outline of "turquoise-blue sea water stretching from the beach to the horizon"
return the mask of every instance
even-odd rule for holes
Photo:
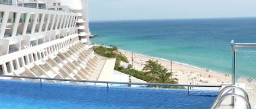
[[[90,22],[92,43],[231,72],[230,41],[256,43],[256,18]],[[249,48],[255,50],[253,48]],[[256,78],[256,53],[239,52],[239,75]]]

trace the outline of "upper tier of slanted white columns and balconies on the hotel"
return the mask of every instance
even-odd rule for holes
[[[59,39],[59,36],[68,36],[77,33],[75,27],[78,14],[73,12],[56,12],[50,10],[31,9],[1,5],[0,41],[9,41],[9,50],[21,50],[24,46],[35,46],[47,41]],[[14,17],[15,16],[15,17]],[[47,32],[55,32],[47,40]],[[26,39],[24,37],[30,37]],[[20,39],[20,41],[16,41]],[[25,41],[29,40],[25,44]],[[32,42],[33,41],[33,42]],[[19,44],[20,43],[20,44]],[[18,46],[13,46],[19,44]],[[11,49],[10,49],[11,48]],[[7,48],[1,48],[1,53],[8,54]]]

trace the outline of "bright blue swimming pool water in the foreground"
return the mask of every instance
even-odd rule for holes
[[[0,80],[0,108],[210,108],[218,91]]]

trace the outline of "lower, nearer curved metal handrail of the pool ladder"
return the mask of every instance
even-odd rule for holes
[[[246,102],[246,108],[248,108],[248,109],[251,109],[252,107],[251,107],[251,104],[250,104],[250,102],[249,102],[249,100],[248,99],[246,99],[245,97],[243,97],[242,95],[239,95],[239,94],[236,94],[236,93],[225,93],[220,99],[219,99],[219,101],[217,102],[217,104],[215,105],[215,107],[213,107],[213,108],[217,108],[217,107],[219,107],[219,105],[221,104],[221,102],[225,99],[225,98],[227,98],[227,97],[239,97],[239,98],[241,98],[243,101],[245,101]]]

